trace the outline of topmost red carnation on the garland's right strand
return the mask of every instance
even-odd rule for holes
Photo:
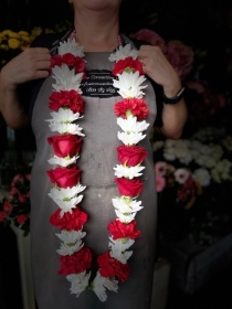
[[[133,72],[138,71],[139,75],[144,74],[143,65],[138,60],[133,57],[126,57],[116,62],[114,70],[112,71],[113,75],[122,74],[125,70],[131,70]]]

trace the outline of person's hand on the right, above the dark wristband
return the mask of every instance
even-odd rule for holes
[[[181,82],[159,46],[141,45],[138,60],[143,63],[144,73],[164,87],[166,96],[176,96]]]

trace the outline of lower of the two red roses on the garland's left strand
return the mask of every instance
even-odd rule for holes
[[[71,168],[56,168],[54,170],[46,171],[52,183],[59,188],[72,188],[80,182],[81,170],[76,166]]]

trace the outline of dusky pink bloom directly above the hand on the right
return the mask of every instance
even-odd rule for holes
[[[162,52],[166,51],[165,40],[152,30],[141,29],[134,34],[134,38],[137,40],[146,41],[154,46],[159,46],[162,50]]]

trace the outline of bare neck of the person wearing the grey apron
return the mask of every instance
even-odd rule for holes
[[[86,22],[87,21],[87,22]],[[113,51],[118,45],[119,24],[117,18],[107,14],[75,15],[75,38],[85,52]]]

